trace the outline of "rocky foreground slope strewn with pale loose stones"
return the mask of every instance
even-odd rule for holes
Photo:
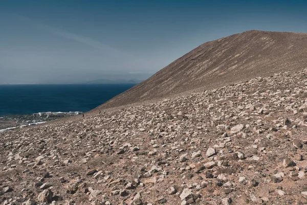
[[[2,204],[307,204],[307,71],[0,133]]]

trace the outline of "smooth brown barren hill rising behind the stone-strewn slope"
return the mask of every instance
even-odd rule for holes
[[[307,67],[307,34],[246,31],[207,42],[107,101],[110,108]]]

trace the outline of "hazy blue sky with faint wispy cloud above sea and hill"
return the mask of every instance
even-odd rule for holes
[[[0,84],[144,79],[247,30],[307,32],[306,1],[2,1]]]

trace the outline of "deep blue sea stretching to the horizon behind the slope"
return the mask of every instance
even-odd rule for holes
[[[38,112],[87,112],[135,84],[0,85],[0,116]]]

